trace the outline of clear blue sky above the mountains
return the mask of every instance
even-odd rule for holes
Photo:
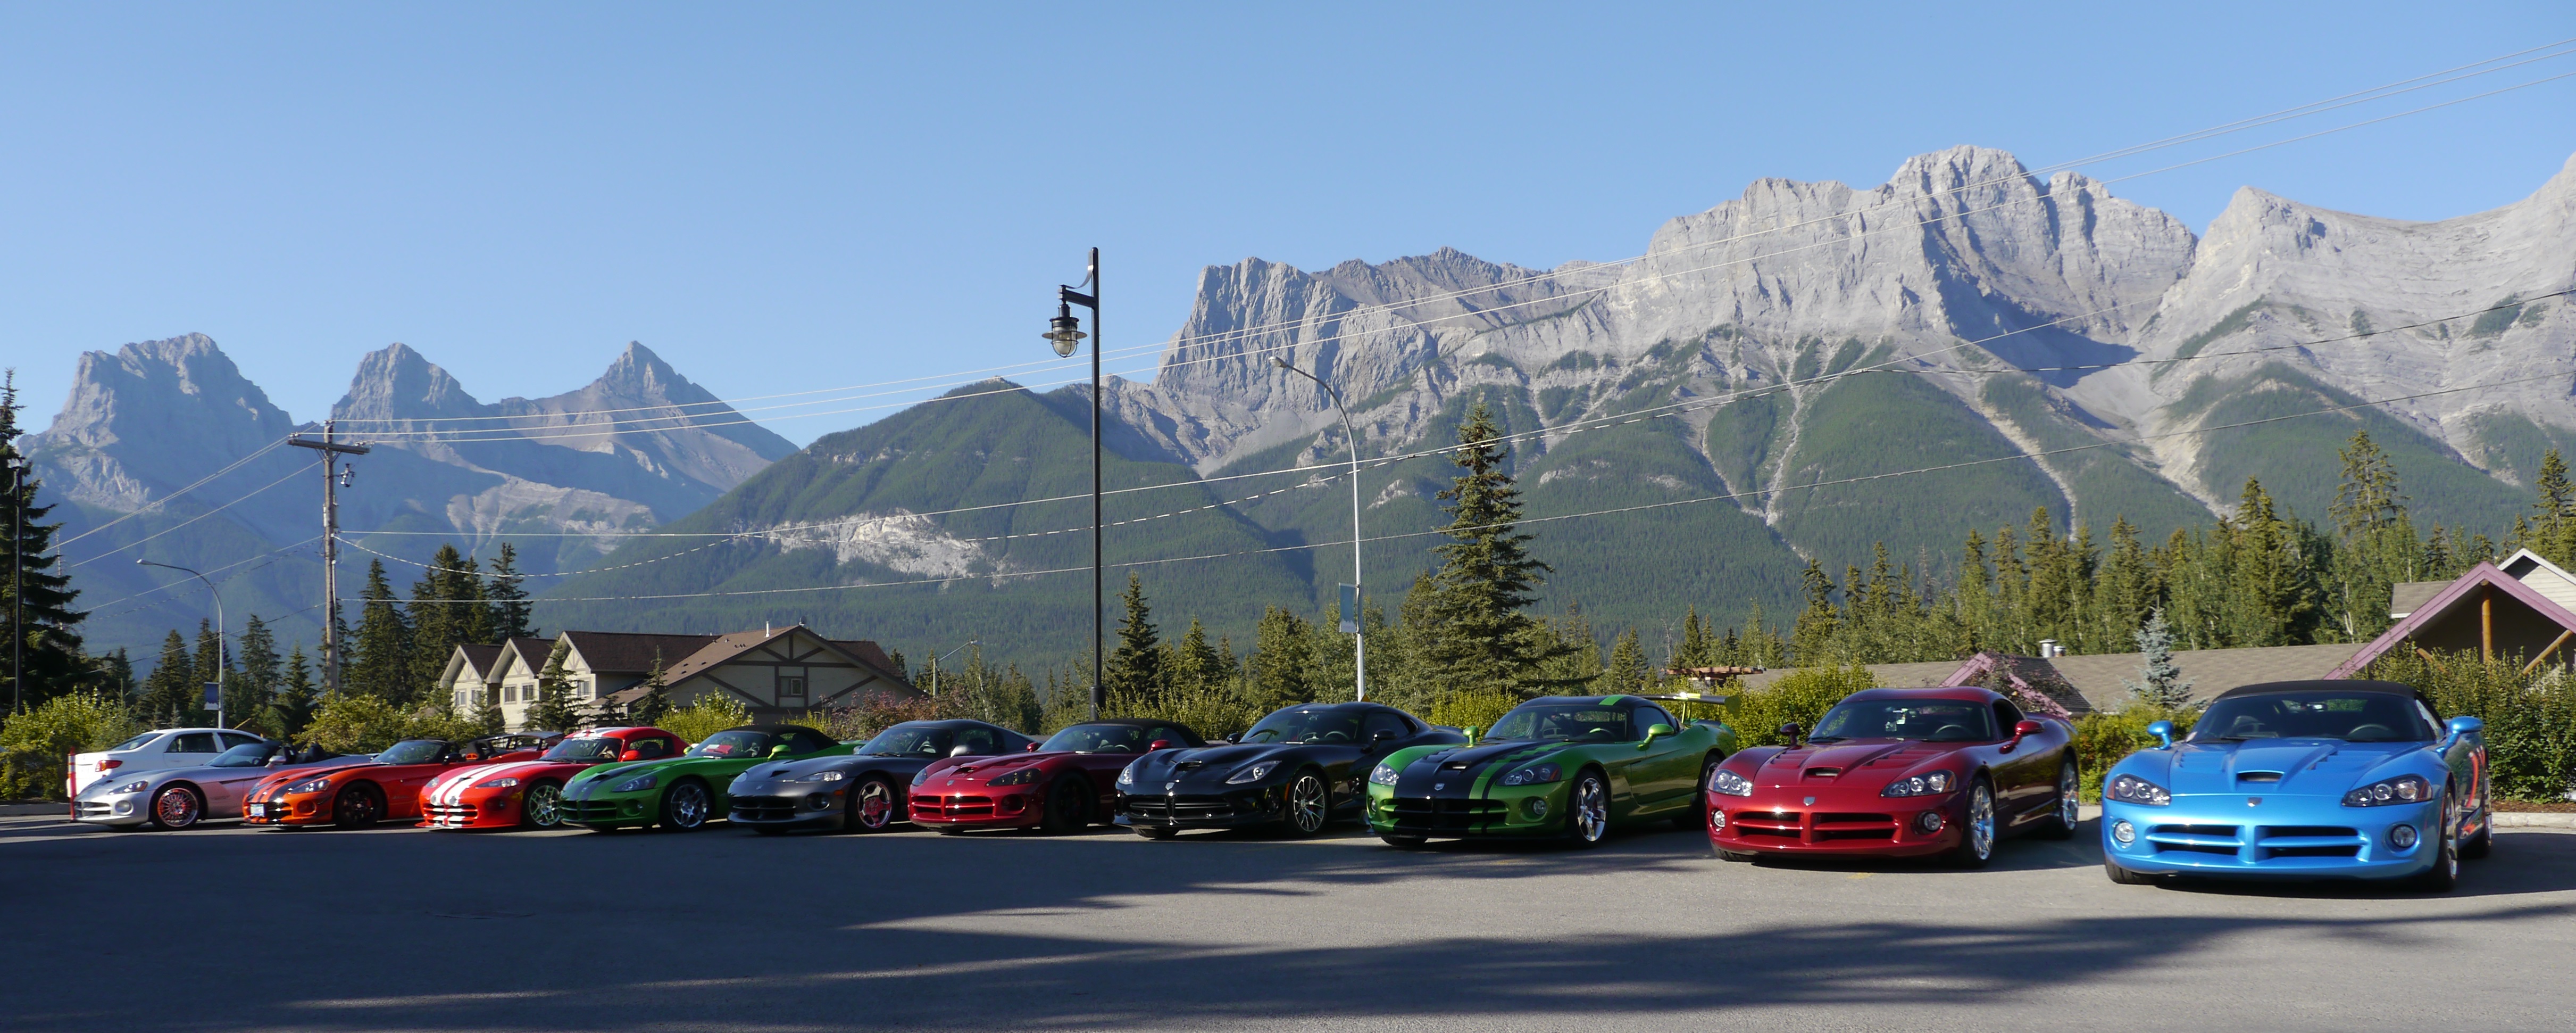
[[[0,8],[0,363],[33,428],[77,353],[191,330],[296,417],[392,340],[482,399],[626,340],[724,397],[940,384],[1041,358],[1092,245],[1133,348],[1211,263],[1615,260],[1765,175],[2045,165],[2576,36],[2563,0],[938,8]],[[2442,219],[2571,152],[2561,80],[2115,193]]]

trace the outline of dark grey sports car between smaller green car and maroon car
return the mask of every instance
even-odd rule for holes
[[[760,832],[837,827],[878,832],[912,814],[904,788],[933,760],[1028,752],[1036,742],[984,721],[904,721],[853,755],[760,763],[734,778],[734,824]]]

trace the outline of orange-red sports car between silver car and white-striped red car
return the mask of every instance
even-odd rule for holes
[[[291,770],[260,778],[242,804],[247,824],[337,824],[363,829],[386,819],[420,817],[420,786],[461,765],[536,760],[562,734],[495,734],[474,742],[404,739],[376,763],[332,770]]]

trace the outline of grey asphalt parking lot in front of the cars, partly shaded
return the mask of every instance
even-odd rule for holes
[[[2576,835],[2460,891],[1360,829],[755,837],[0,819],[10,1030],[2566,1028]]]

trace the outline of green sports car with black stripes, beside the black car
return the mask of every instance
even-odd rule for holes
[[[1409,747],[1368,773],[1368,827],[1399,848],[1430,837],[1561,837],[1589,848],[1613,824],[1708,819],[1700,783],[1736,729],[1677,721],[1656,701],[1540,696],[1466,747]],[[1471,729],[1473,732],[1473,729]]]

